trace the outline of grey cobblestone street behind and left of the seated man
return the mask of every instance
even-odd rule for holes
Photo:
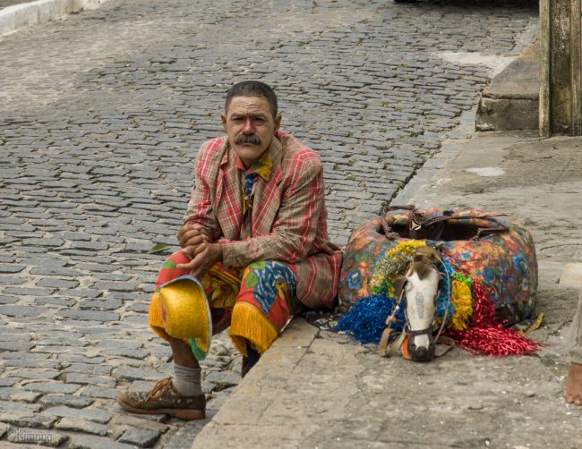
[[[233,83],[270,83],[282,128],[319,152],[343,245],[491,79],[445,56],[518,55],[537,20],[533,0],[109,0],[1,37],[0,446],[42,432],[182,448],[208,422],[130,415],[116,397],[171,372],[150,293]],[[169,248],[149,254],[157,243]],[[209,418],[240,365],[218,335],[202,365]]]

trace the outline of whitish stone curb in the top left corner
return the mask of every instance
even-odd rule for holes
[[[21,28],[60,19],[67,14],[96,9],[106,0],[38,0],[14,4],[0,11],[0,36]]]

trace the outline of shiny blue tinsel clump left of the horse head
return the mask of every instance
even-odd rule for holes
[[[386,318],[394,310],[396,299],[375,294],[358,300],[346,315],[339,318],[336,330],[352,335],[360,343],[380,343]],[[398,309],[392,328],[400,332],[405,322],[404,309]]]

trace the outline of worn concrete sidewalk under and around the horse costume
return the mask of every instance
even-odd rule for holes
[[[582,262],[582,138],[459,132],[392,204],[471,206],[526,224],[545,314],[531,336],[543,351],[492,359],[455,349],[418,364],[295,319],[193,447],[580,446],[582,408],[562,398],[578,287],[560,279]]]

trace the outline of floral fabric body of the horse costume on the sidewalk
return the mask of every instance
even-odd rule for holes
[[[346,313],[382,283],[386,255],[403,241],[426,241],[450,265],[483,284],[505,326],[535,307],[537,260],[524,226],[475,208],[391,207],[352,233],[339,279],[339,311]]]

